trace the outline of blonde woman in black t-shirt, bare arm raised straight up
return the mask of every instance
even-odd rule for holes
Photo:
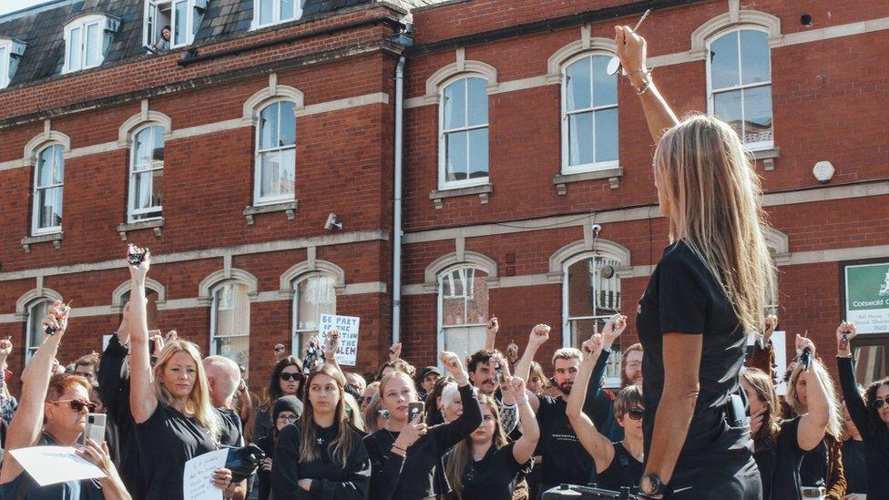
[[[136,422],[139,464],[148,500],[182,498],[182,471],[190,459],[215,451],[220,445],[222,416],[210,401],[207,374],[198,346],[173,340],[157,353],[151,366],[148,356],[148,322],[145,281],[151,255],[138,265],[129,264],[130,377],[129,406]],[[212,485],[225,498],[235,494],[231,471],[216,469]]]

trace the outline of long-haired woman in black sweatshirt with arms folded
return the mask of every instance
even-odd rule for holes
[[[281,430],[271,488],[275,500],[364,500],[371,461],[345,410],[345,377],[331,363],[312,370],[297,425]]]

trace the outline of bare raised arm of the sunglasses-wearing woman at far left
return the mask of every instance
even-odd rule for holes
[[[49,379],[53,376],[53,361],[56,359],[58,344],[65,335],[68,323],[68,311],[61,301],[53,303],[49,314],[41,323],[41,330],[50,326],[56,330],[55,335],[50,335],[37,349],[28,369],[22,375],[22,399],[18,402],[18,410],[15,412],[9,430],[6,432],[5,460],[0,468],[0,485],[13,481],[25,469],[15,461],[8,452],[19,448],[27,448],[36,444],[40,438],[40,430],[43,427],[44,404],[46,391],[49,389]]]

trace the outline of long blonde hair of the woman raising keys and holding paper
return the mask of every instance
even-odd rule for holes
[[[160,383],[161,375],[167,368],[170,358],[179,352],[186,352],[195,362],[197,378],[194,386],[189,393],[189,400],[185,403],[185,412],[194,416],[201,425],[208,431],[209,435],[215,441],[220,437],[220,417],[213,403],[209,399],[209,385],[207,383],[207,372],[204,371],[204,364],[200,359],[200,351],[198,346],[193,342],[177,339],[169,342],[164,349],[158,354],[158,362],[154,366],[154,391],[158,396],[158,402],[172,405],[173,398],[169,391]]]

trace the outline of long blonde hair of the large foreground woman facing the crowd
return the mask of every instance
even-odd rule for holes
[[[741,138],[718,118],[685,117],[660,139],[654,170],[669,202],[670,240],[703,260],[743,330],[760,330],[775,270],[760,178]]]

